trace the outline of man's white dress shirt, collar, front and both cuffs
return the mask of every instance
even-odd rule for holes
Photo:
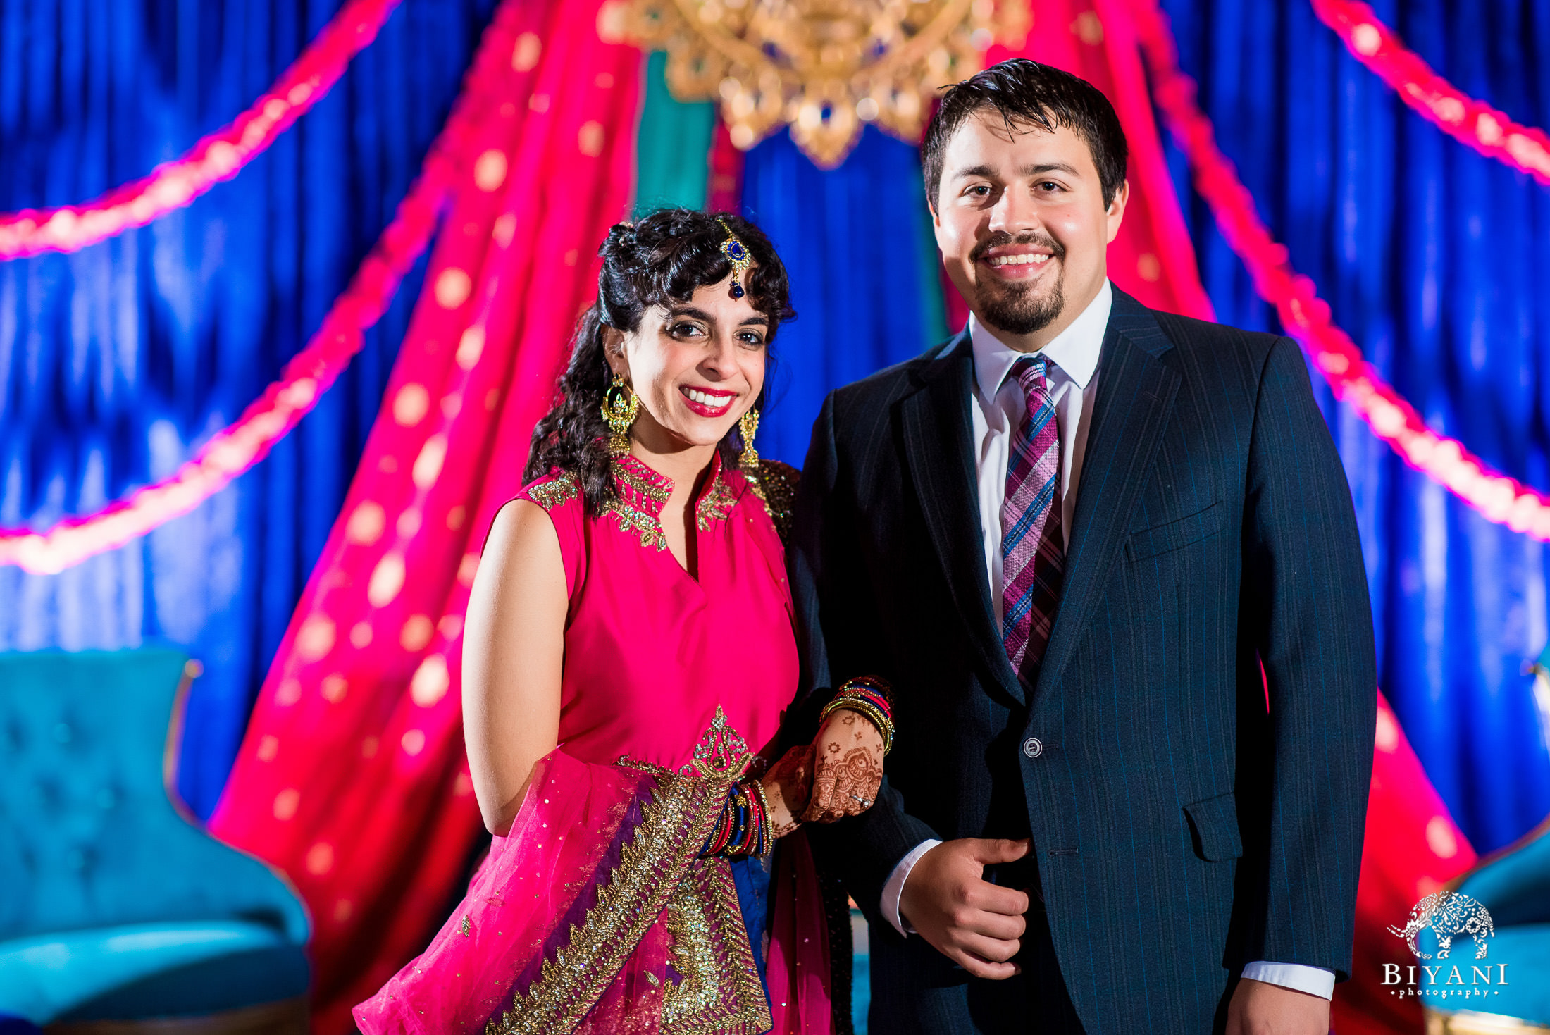
[[[1060,428],[1060,531],[1071,545],[1071,521],[1076,516],[1076,491],[1082,480],[1082,460],[1087,454],[1087,432],[1093,421],[1093,404],[1097,400],[1097,358],[1108,330],[1108,313],[1114,293],[1104,280],[1082,315],[1056,335],[1043,347],[1048,358],[1045,384],[1056,409],[1056,425]],[[1003,344],[984,324],[969,316],[969,336],[973,346],[973,398],[969,414],[973,421],[973,462],[980,485],[980,530],[984,539],[984,567],[990,581],[990,600],[995,606],[997,628],[1001,624],[1001,502],[1006,499],[1006,460],[1012,435],[1028,401],[1017,378],[1008,377],[1012,366],[1026,356]],[[882,914],[908,937],[899,916],[899,899],[910,871],[928,851],[941,844],[927,840],[916,844],[888,875],[882,889]],[[1273,964],[1256,961],[1243,967],[1243,976],[1254,981],[1308,992],[1324,996],[1335,995],[1335,971],[1302,964]]]

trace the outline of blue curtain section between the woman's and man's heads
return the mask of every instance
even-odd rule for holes
[[[781,132],[747,153],[742,214],[786,262],[797,310],[775,339],[758,449],[800,466],[831,389],[947,336],[919,152],[868,127],[822,170]]]

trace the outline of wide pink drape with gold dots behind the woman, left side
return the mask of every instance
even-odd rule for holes
[[[350,1030],[423,944],[479,827],[457,691],[479,538],[521,487],[629,198],[640,53],[600,39],[604,11],[505,0],[480,43],[496,87],[471,98],[381,414],[211,818],[310,906],[319,1032]]]

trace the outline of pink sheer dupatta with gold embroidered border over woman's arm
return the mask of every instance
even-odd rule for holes
[[[698,857],[730,779],[550,753],[431,947],[355,1007],[361,1032],[826,1035],[806,844],[772,882],[773,1016],[732,871]]]

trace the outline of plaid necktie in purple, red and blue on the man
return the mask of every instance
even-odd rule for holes
[[[1032,683],[1060,603],[1060,428],[1045,381],[1043,355],[1012,367],[1028,412],[1012,435],[1001,500],[1001,641],[1012,669]]]

